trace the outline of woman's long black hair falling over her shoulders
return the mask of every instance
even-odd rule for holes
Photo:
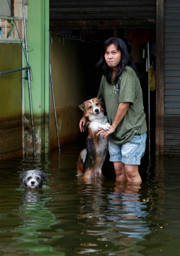
[[[104,55],[108,45],[115,44],[118,50],[121,51],[121,61],[118,64],[117,74],[115,76],[114,82],[117,83],[119,77],[126,70],[126,66],[133,68],[136,72],[136,75],[140,78],[138,70],[133,62],[132,56],[128,53],[125,42],[118,37],[110,37],[103,44],[102,54],[100,60],[97,62],[96,67],[100,67],[103,70],[103,75],[106,77],[106,80],[109,84],[111,84],[111,68],[107,65]]]

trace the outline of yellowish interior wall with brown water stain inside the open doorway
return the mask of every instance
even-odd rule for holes
[[[54,33],[51,33],[51,37]],[[64,43],[64,44],[63,44]],[[79,136],[82,116],[78,105],[85,99],[84,63],[80,57],[79,42],[52,37],[51,66],[60,145]],[[54,106],[51,92],[50,148],[57,148]]]

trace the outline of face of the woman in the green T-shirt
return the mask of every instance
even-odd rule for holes
[[[104,58],[109,67],[117,67],[121,61],[121,51],[118,50],[116,44],[110,44],[106,47]]]

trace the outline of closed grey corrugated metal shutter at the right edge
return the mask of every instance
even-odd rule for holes
[[[180,1],[165,0],[164,153],[180,153]]]

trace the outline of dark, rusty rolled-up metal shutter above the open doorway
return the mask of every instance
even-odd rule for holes
[[[50,0],[50,30],[154,28],[155,0]]]

